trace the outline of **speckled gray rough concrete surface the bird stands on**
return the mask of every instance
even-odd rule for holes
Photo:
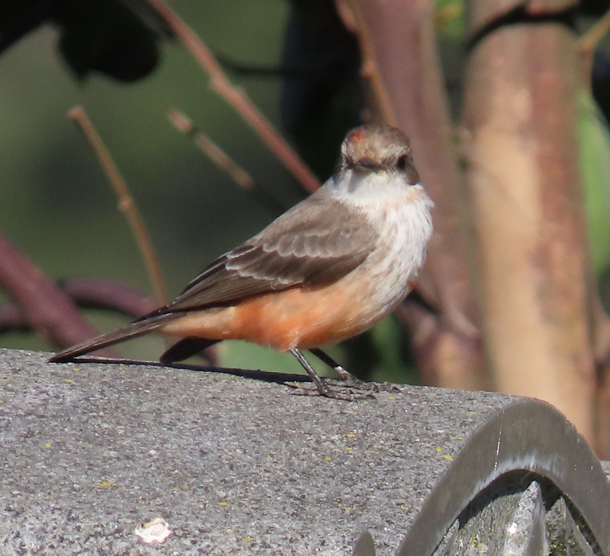
[[[454,455],[515,398],[345,402],[245,377],[0,349],[2,554],[394,554]],[[146,544],[142,522],[171,535]]]

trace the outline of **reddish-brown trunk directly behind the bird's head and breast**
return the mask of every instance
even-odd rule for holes
[[[350,2],[365,23],[359,37],[374,55],[375,73],[387,91],[388,100],[379,104],[390,102],[398,127],[411,137],[422,183],[436,204],[435,234],[417,287],[439,314],[411,310],[408,302],[401,313],[408,315],[418,369],[436,385],[486,388],[478,311],[467,273],[465,234],[459,226],[462,175],[436,51],[433,4]]]

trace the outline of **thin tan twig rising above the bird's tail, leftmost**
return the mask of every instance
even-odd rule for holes
[[[134,233],[135,240],[146,265],[146,270],[148,271],[149,279],[152,283],[155,297],[159,302],[159,305],[166,304],[167,289],[165,288],[165,282],[163,282],[159,259],[154,251],[148,232],[146,232],[146,226],[142,221],[140,211],[138,211],[135,206],[134,199],[132,198],[131,193],[129,193],[123,176],[121,176],[120,171],[118,171],[108,149],[106,149],[106,146],[99,137],[98,132],[96,132],[95,127],[93,127],[93,124],[87,117],[85,111],[81,107],[76,106],[68,112],[68,116],[80,127],[85,134],[85,137],[87,137],[110,184],[112,184],[115,193],[117,193],[118,209],[124,213],[125,218],[127,218],[127,222]]]

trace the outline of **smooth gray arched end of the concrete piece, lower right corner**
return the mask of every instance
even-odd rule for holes
[[[495,486],[490,486],[494,482]],[[527,526],[518,526],[517,521],[508,516],[502,520],[498,515],[492,521],[496,528],[500,523],[502,530],[493,531],[490,524],[482,522],[474,528],[471,526],[471,531],[483,533],[478,543],[485,547],[489,543],[493,546],[495,542],[500,543],[498,546],[504,545],[503,540],[510,540],[511,535],[517,536],[529,528],[533,535],[531,542],[542,550],[536,549],[532,553],[548,554],[546,541],[536,539],[541,534],[542,537],[548,534],[544,507],[550,508],[562,498],[570,508],[566,519],[576,519],[596,551],[610,554],[610,485],[605,472],[572,424],[550,405],[532,399],[515,402],[473,431],[451,468],[432,490],[398,554],[431,554],[443,541],[442,532],[449,529],[452,518],[464,516],[465,508],[475,497],[486,498],[489,504],[493,501],[506,504],[506,494],[500,490],[507,483],[515,482],[522,482],[522,487],[515,490],[517,498],[512,505],[508,503],[509,512],[511,507],[522,502],[523,496],[529,496],[528,486],[536,485],[540,491],[540,482],[544,485],[547,501],[542,504],[540,492],[536,511],[532,511]],[[487,504],[481,505],[480,511],[484,507]],[[576,532],[583,536],[580,529]],[[528,542],[516,543],[522,547],[522,552],[506,552],[498,547],[499,552],[493,550],[491,554],[529,554]],[[461,553],[458,548],[455,552],[447,552]],[[480,554],[484,553],[481,547]]]

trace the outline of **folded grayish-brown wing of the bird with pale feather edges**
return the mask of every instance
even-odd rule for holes
[[[160,312],[231,304],[256,294],[330,283],[373,249],[364,214],[318,190],[243,245],[215,260]],[[158,313],[157,313],[158,314]]]

